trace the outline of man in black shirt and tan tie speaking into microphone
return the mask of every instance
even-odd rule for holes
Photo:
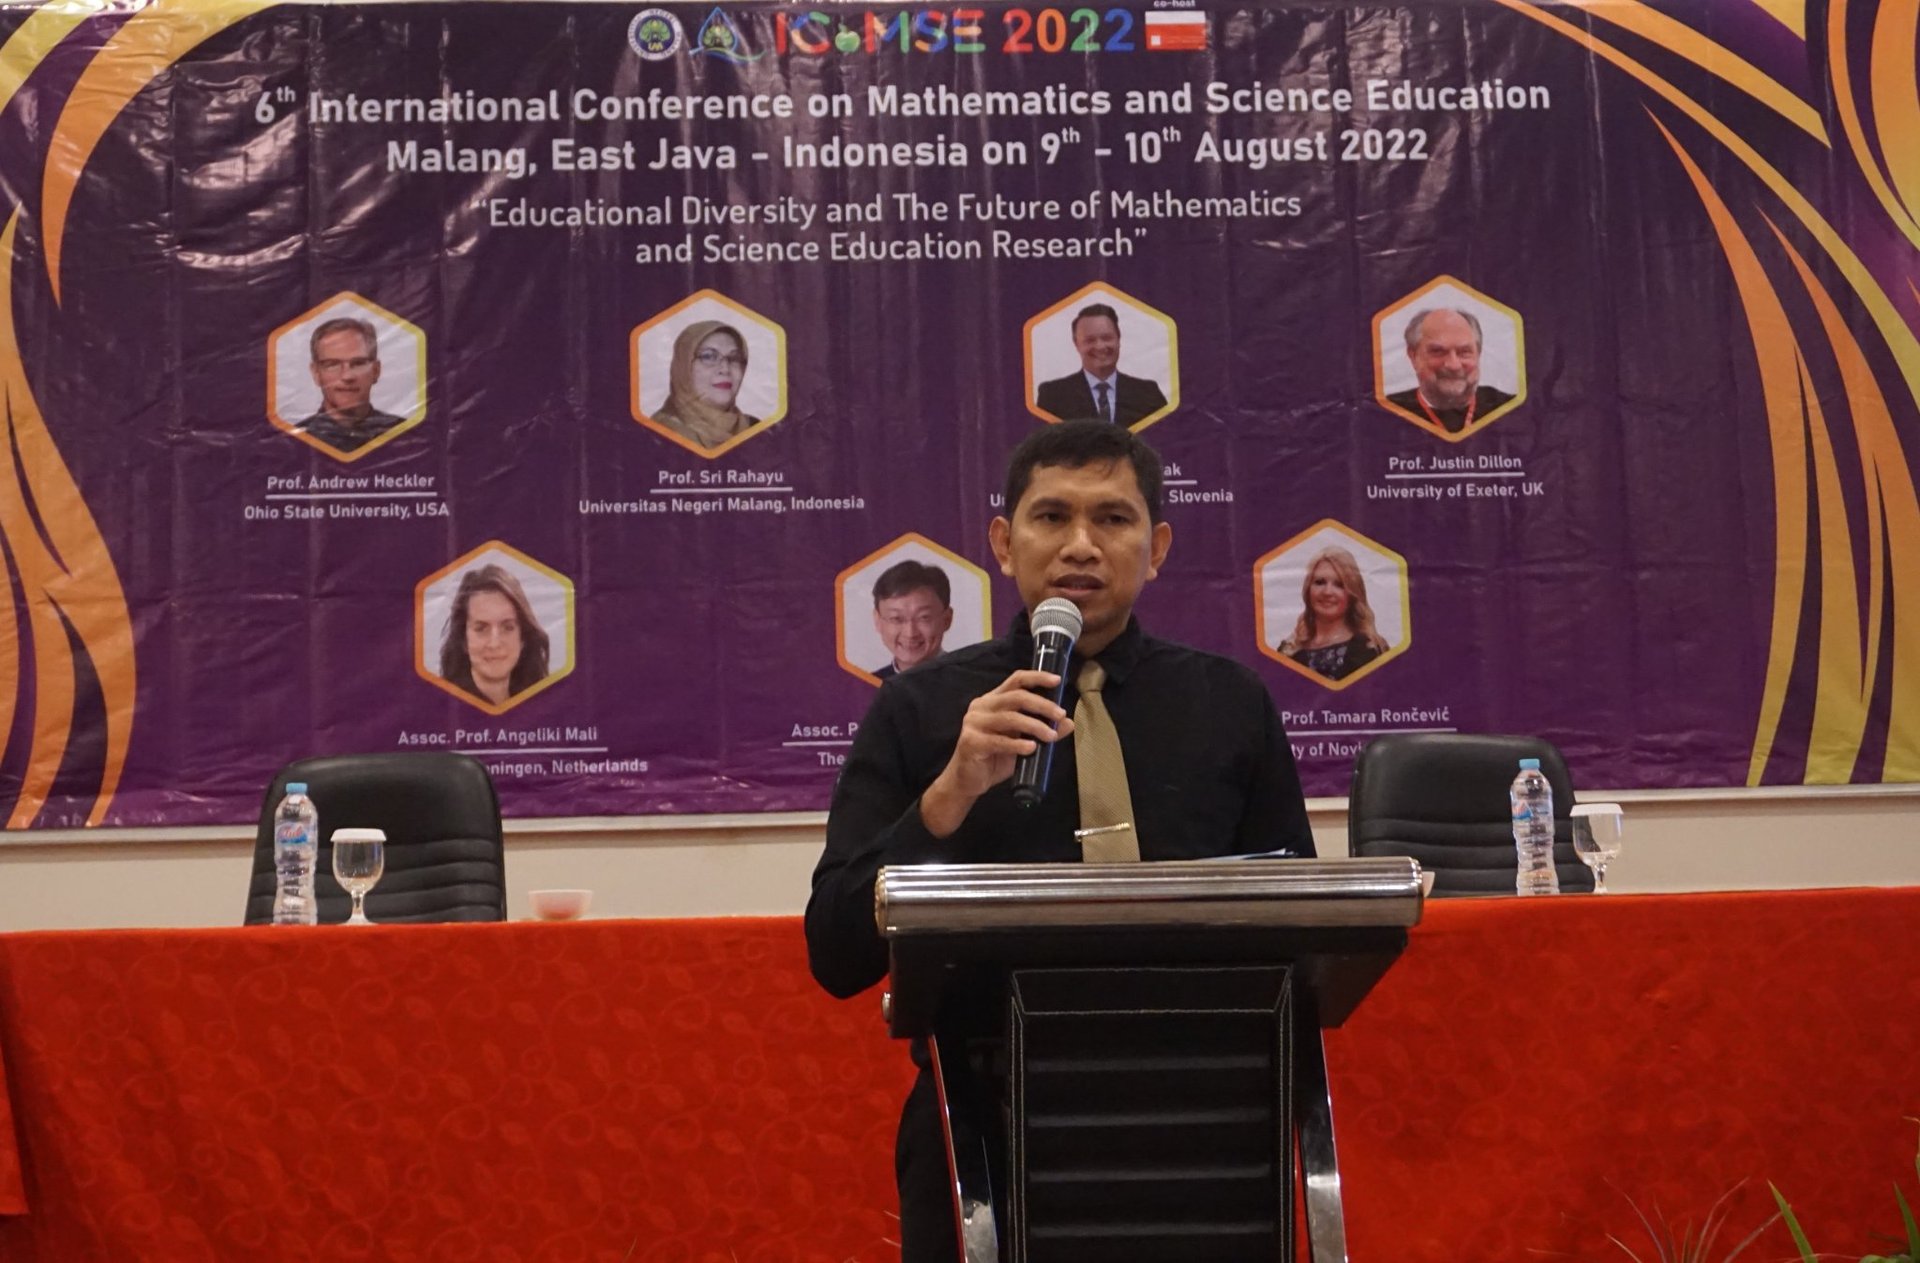
[[[1004,503],[987,536],[1025,610],[1006,635],[889,679],[833,787],[806,950],[835,996],[887,973],[874,925],[881,866],[1313,854],[1300,774],[1260,678],[1154,639],[1133,618],[1173,541],[1154,449],[1098,420],[1044,426],[1014,449]],[[1052,597],[1083,618],[1060,704],[1060,678],[1033,670],[1029,632]],[[1021,806],[1008,781],[1041,743],[1054,745],[1052,772],[1041,800]],[[1083,814],[1100,816],[1085,843]],[[1108,825],[1110,814],[1125,827]],[[968,1000],[948,994],[943,1025],[995,1035],[995,1006]],[[895,1148],[900,1257],[950,1263],[952,1180],[920,1040],[914,1061],[922,1073]]]

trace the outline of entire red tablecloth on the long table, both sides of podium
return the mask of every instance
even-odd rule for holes
[[[1624,1257],[1628,1200],[1741,1180],[1724,1246],[1766,1180],[1884,1244],[1916,925],[1920,891],[1432,904],[1329,1035],[1352,1257]],[[789,919],[10,935],[0,1052],[4,1263],[897,1257],[906,1052]]]

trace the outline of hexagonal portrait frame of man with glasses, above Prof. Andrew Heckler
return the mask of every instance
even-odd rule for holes
[[[323,438],[330,432],[324,424],[313,432],[313,426],[323,422],[326,407],[319,369],[313,365],[313,330],[334,319],[365,321],[372,326],[378,369],[367,401],[376,418],[392,418],[392,424],[357,447],[338,447]],[[267,336],[267,420],[315,451],[334,461],[359,461],[420,424],[424,417],[426,334],[413,321],[371,298],[342,290]]]

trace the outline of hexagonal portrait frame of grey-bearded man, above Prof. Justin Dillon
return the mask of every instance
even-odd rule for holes
[[[1434,409],[1419,392],[1407,332],[1428,311],[1467,313],[1480,324],[1476,392],[1467,409]],[[1373,317],[1373,399],[1427,434],[1459,443],[1526,403],[1526,322],[1471,284],[1434,276]],[[1461,428],[1450,430],[1455,417]]]

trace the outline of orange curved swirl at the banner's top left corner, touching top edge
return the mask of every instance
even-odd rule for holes
[[[108,127],[180,54],[275,4],[276,0],[156,0],[152,8],[129,17],[81,73],[46,146],[46,180],[40,192],[46,276],[56,303],[67,209],[86,159]]]

